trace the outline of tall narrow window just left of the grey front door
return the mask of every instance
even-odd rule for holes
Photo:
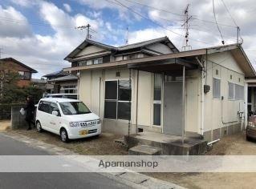
[[[161,74],[154,74],[153,125],[161,125]]]

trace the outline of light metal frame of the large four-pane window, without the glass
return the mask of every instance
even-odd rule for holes
[[[132,120],[132,78],[131,78],[131,100],[130,101],[124,101],[124,100],[119,100],[119,81],[122,80],[127,80],[129,81],[129,78],[114,78],[114,79],[106,79],[104,81],[104,119],[106,120],[118,120],[118,121],[124,121],[124,122],[128,122],[129,119],[118,119],[118,103],[131,103],[131,107],[130,107],[130,120]],[[106,99],[106,82],[116,82],[116,99]],[[109,119],[109,118],[105,118],[105,102],[116,102],[116,119]]]

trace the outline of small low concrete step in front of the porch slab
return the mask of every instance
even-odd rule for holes
[[[161,148],[148,145],[138,145],[128,151],[129,155],[161,155]]]

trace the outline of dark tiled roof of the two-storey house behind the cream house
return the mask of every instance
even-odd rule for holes
[[[118,46],[118,47],[108,46],[108,45],[106,45],[104,43],[101,43],[101,42],[95,42],[95,41],[92,41],[90,39],[85,39],[79,46],[77,46],[75,48],[75,50],[73,50],[70,54],[68,54],[67,57],[64,58],[64,59],[68,60],[69,58],[73,58],[75,56],[75,54],[78,54],[88,44],[95,45],[95,46],[100,46],[100,47],[102,47],[106,50],[122,51],[122,50],[131,50],[131,49],[136,49],[136,48],[142,48],[144,46],[152,45],[153,43],[156,43],[156,42],[165,42],[171,49],[173,49],[174,52],[179,51],[177,49],[177,47],[173,45],[173,42],[171,42],[169,40],[169,38],[166,37],[166,36],[163,37],[163,38],[154,38],[154,39],[147,40],[147,41],[144,41],[144,42],[136,42],[136,43],[132,43],[132,44],[129,44],[129,45]]]

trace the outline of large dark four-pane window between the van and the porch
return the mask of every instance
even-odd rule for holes
[[[131,118],[132,89],[128,79],[105,82],[105,119]]]

